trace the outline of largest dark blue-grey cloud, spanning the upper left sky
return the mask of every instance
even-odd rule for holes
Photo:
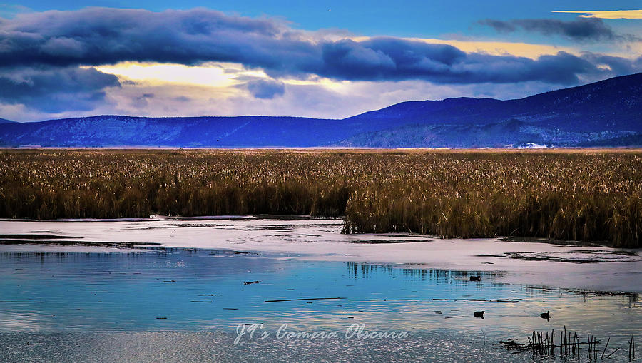
[[[277,66],[283,56],[309,54],[313,48],[289,31],[274,20],[205,9],[45,11],[0,24],[0,65],[217,60]]]

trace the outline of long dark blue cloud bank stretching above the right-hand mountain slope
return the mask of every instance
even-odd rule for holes
[[[453,46],[402,39],[340,41],[322,48],[323,66],[313,73],[348,80],[424,79],[434,83],[513,83],[544,81],[572,84],[579,75],[596,75],[595,63],[569,53],[516,56],[464,53]],[[624,63],[631,62],[623,58]]]

